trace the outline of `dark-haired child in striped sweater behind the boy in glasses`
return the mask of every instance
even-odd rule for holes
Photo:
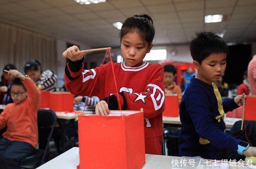
[[[57,75],[51,70],[42,71],[41,63],[37,60],[25,64],[24,72],[33,79],[40,91],[54,92],[56,90]]]

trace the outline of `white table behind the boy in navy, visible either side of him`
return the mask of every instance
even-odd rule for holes
[[[227,128],[232,128],[236,121],[242,120],[240,118],[226,117],[225,123]],[[180,117],[165,117],[163,116],[163,123],[181,125]]]

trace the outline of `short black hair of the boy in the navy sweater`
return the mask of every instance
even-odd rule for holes
[[[211,54],[229,53],[226,42],[220,36],[212,32],[200,32],[196,36],[190,42],[190,53],[199,64]]]

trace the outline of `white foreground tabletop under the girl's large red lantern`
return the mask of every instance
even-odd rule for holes
[[[191,157],[193,158],[193,157]],[[152,155],[152,154],[146,154],[146,164],[144,165],[144,167],[142,167],[143,169],[184,169],[184,168],[192,168],[192,165],[189,165],[187,163],[187,166],[181,166],[182,163],[178,163],[178,166],[175,166],[174,163],[172,163],[172,161],[174,160],[184,160],[186,159],[187,161],[189,161],[190,157],[173,157],[173,156],[159,156],[159,155]],[[196,160],[195,160],[196,161]],[[63,154],[61,154],[58,157],[55,157],[54,159],[48,161],[47,163],[45,163],[44,165],[41,165],[40,167],[38,167],[38,169],[76,169],[76,166],[79,164],[79,148],[78,147],[74,147],[71,148],[70,150],[64,152]],[[198,163],[196,163],[197,165],[195,165],[193,168],[213,168],[213,166],[207,166],[208,164],[201,162],[200,166],[198,166]],[[256,165],[254,165],[253,167],[256,167]],[[226,167],[228,168],[228,167]],[[226,169],[225,168],[225,169]],[[238,166],[237,163],[237,169],[248,169],[248,167],[240,167]],[[217,167],[216,169],[219,169],[219,167]]]

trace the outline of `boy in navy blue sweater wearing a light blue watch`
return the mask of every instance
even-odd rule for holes
[[[225,149],[246,157],[256,156],[255,147],[224,133],[224,112],[241,106],[246,98],[242,94],[222,102],[213,83],[225,71],[227,44],[214,33],[201,32],[190,43],[190,52],[198,74],[191,79],[180,103],[179,156],[221,159]]]

